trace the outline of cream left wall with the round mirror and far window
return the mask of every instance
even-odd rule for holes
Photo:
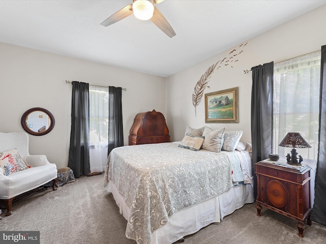
[[[55,128],[30,137],[30,154],[44,154],[58,168],[68,164],[72,85],[76,80],[93,85],[121,86],[124,144],[139,112],[165,113],[165,78],[100,65],[85,60],[0,43],[0,131],[20,132],[20,118],[34,107],[49,110]]]

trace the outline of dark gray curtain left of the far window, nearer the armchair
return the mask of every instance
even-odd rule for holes
[[[73,81],[68,167],[76,178],[91,172],[89,130],[89,84]]]

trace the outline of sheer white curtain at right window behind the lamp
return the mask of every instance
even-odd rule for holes
[[[304,159],[317,159],[320,51],[274,65],[273,151],[287,155],[279,143],[288,132],[299,132],[311,148],[298,148]]]

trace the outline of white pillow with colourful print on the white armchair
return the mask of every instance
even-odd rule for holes
[[[29,168],[18,154],[17,149],[11,149],[0,153],[0,167],[3,169],[3,174],[6,176],[19,170]]]

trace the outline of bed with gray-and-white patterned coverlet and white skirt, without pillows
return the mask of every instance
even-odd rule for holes
[[[123,146],[108,156],[104,186],[139,244],[173,243],[255,200],[250,151],[179,145]]]

